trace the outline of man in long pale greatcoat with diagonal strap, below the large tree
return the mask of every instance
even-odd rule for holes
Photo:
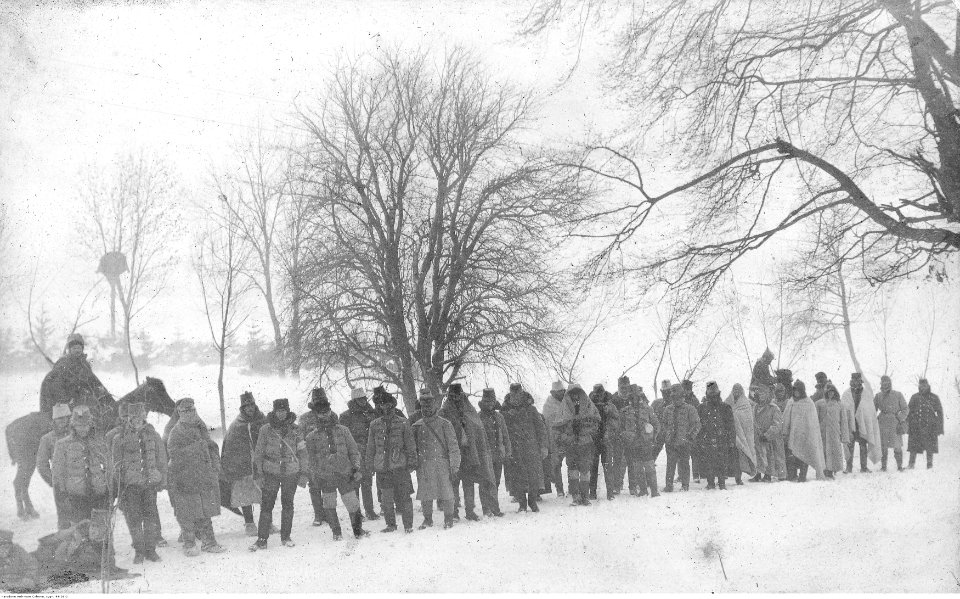
[[[433,526],[433,502],[443,510],[443,527],[453,526],[452,481],[460,474],[460,443],[453,425],[437,413],[437,400],[420,390],[421,418],[413,424],[417,447],[417,499],[423,512],[420,530]]]

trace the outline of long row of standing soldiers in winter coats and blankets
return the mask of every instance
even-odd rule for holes
[[[576,383],[555,382],[542,411],[519,383],[510,385],[502,402],[493,389],[484,389],[475,407],[454,383],[444,398],[421,390],[407,418],[382,386],[374,389],[372,405],[365,390],[353,389],[340,415],[318,388],[298,419],[287,399],[274,400],[264,415],[246,392],[222,451],[190,398],[177,402],[162,436],[146,422],[143,404],[121,404],[120,422],[104,435],[93,426],[87,406],[71,410],[57,404],[54,429],[41,439],[38,468],[53,487],[60,528],[89,520],[116,500],[130,530],[134,563],[142,563],[159,561],[156,549],[166,545],[157,509],[163,489],[183,550],[195,556],[225,550],[211,520],[221,507],[244,518],[246,533],[256,537],[251,551],[267,548],[277,532],[282,545],[293,546],[294,497],[306,487],[313,524],[328,525],[335,540],[342,538],[338,496],[353,535],[369,534],[364,520],[380,517],[374,485],[386,521],[382,532],[398,530],[398,512],[404,531],[413,532],[413,472],[423,530],[434,525],[434,502],[444,528],[460,520],[461,507],[466,520],[503,516],[501,477],[518,511],[538,512],[541,496],[553,487],[557,496],[565,495],[564,462],[572,505],[597,498],[601,466],[608,500],[621,493],[625,479],[631,495],[657,497],[655,461],[664,449],[665,492],[674,490],[677,473],[684,491],[691,474],[697,481],[705,478],[707,489],[725,489],[728,477],[743,484],[743,474],[753,482],[803,482],[809,467],[831,479],[852,471],[857,446],[862,472],[869,471],[868,457],[879,458],[886,470],[889,449],[902,470],[904,433],[909,467],[923,452],[932,467],[943,410],[926,380],[907,404],[890,377],[881,379],[874,395],[862,375],[853,373],[841,395],[817,373],[816,392],[808,397],[802,381],[784,384],[767,377],[771,358],[768,352],[758,363],[749,396],[737,384],[726,400],[715,382],[707,383],[699,401],[690,381],[664,381],[662,396],[651,403],[623,376],[615,393],[595,385],[588,394]],[[273,524],[278,497],[279,530]],[[256,521],[253,505],[260,505]]]

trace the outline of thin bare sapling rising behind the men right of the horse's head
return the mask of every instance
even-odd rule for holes
[[[220,207],[227,202],[221,200]],[[237,331],[246,322],[247,314],[240,305],[250,288],[249,278],[244,276],[248,253],[241,243],[240,224],[235,212],[208,215],[206,230],[197,237],[197,255],[194,272],[203,295],[203,310],[207,317],[210,339],[217,351],[217,394],[220,397],[220,426],[226,434],[227,411],[223,395],[223,371],[227,350],[235,340]]]

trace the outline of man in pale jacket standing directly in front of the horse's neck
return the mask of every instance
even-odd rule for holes
[[[144,559],[158,562],[157,492],[166,478],[166,446],[147,423],[142,403],[129,404],[127,418],[128,423],[110,445],[110,480],[117,486],[120,509],[133,540],[133,563],[142,564]]]

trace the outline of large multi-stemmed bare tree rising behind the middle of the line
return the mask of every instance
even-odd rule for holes
[[[574,291],[548,252],[583,197],[522,143],[529,94],[462,50],[437,62],[349,62],[324,105],[300,110],[308,336],[396,384],[408,409],[420,383],[436,393],[552,342],[553,310]]]

